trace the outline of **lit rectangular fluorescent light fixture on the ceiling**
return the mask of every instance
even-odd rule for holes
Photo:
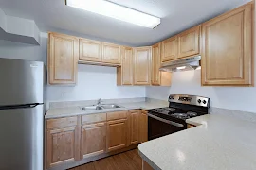
[[[138,26],[154,28],[161,23],[160,18],[132,8],[125,8],[104,0],[65,0],[66,5],[115,18]]]

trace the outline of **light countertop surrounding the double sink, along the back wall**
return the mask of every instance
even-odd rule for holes
[[[115,103],[119,105],[121,108],[117,109],[106,109],[106,110],[87,110],[82,111],[80,107],[67,107],[67,108],[54,108],[49,109],[46,112],[45,118],[60,118],[60,117],[67,117],[67,116],[76,116],[82,114],[95,114],[101,112],[112,112],[112,111],[119,111],[119,110],[150,110],[154,108],[162,108],[168,107],[167,104],[161,102],[153,102],[153,101],[144,101],[144,102],[131,102],[131,103]]]

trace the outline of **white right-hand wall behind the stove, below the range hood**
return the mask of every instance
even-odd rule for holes
[[[255,87],[202,87],[201,71],[173,73],[172,87],[147,87],[147,97],[167,100],[169,94],[210,97],[210,106],[256,112]]]

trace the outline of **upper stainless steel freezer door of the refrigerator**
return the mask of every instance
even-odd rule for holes
[[[45,72],[43,62],[0,59],[0,107],[44,103]]]

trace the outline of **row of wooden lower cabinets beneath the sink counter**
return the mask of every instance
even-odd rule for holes
[[[68,169],[148,140],[145,110],[46,120],[46,168]],[[135,146],[135,147],[134,147]],[[115,151],[115,152],[112,152]],[[56,167],[57,166],[57,167]]]

